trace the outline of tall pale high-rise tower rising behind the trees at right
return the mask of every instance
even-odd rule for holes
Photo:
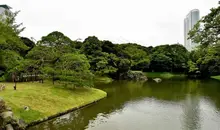
[[[184,46],[188,51],[192,51],[198,46],[198,44],[193,43],[192,40],[188,39],[189,31],[194,27],[194,25],[199,21],[199,10],[191,10],[186,18],[184,19]]]

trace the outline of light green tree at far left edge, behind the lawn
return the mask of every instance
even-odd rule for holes
[[[27,49],[13,28],[0,21],[0,76],[4,74],[9,80],[13,68],[23,60],[21,54]]]

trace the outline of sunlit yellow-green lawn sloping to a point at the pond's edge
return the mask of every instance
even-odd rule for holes
[[[107,95],[95,88],[70,90],[50,82],[18,83],[16,91],[13,90],[13,83],[5,84],[6,89],[0,92],[0,97],[12,108],[15,116],[26,123],[91,103]],[[25,111],[24,106],[30,107],[30,110]]]

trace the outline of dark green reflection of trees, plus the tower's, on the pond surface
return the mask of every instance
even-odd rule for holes
[[[111,114],[123,109],[130,101],[139,101],[142,98],[155,98],[166,102],[183,103],[182,128],[183,130],[199,129],[200,124],[200,96],[208,96],[220,103],[219,82],[204,83],[199,80],[163,80],[161,83],[147,81],[140,82],[113,82],[99,88],[108,92],[108,97],[97,104],[81,109],[51,121],[35,126],[31,130],[83,130],[105,122]]]

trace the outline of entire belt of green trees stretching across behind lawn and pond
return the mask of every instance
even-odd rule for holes
[[[94,76],[126,79],[141,75],[141,71],[203,77],[220,74],[220,7],[213,8],[189,33],[200,44],[192,52],[181,44],[145,47],[113,44],[95,36],[83,42],[72,41],[58,31],[34,43],[18,36],[22,30],[14,25],[16,15],[11,24],[0,21],[0,80],[11,80],[16,73],[18,81],[52,79],[73,86],[92,86]]]

